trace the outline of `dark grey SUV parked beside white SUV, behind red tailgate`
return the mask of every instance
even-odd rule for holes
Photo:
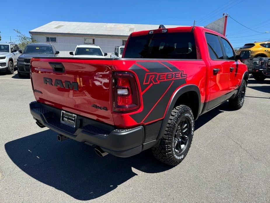
[[[30,73],[30,60],[32,57],[44,56],[44,57],[56,57],[59,51],[55,51],[55,47],[52,44],[39,44],[31,43],[27,44],[24,51],[20,50],[20,57],[18,57],[18,75],[20,78],[29,75]]]

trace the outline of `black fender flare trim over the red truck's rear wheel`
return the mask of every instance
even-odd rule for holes
[[[197,85],[185,85],[183,87],[180,87],[174,94],[173,94],[173,97],[172,99],[170,100],[170,103],[169,103],[169,106],[167,108],[167,111],[166,111],[166,114],[165,114],[165,117],[162,121],[162,124],[161,124],[161,128],[159,130],[159,134],[158,134],[158,137],[157,137],[157,140],[158,139],[161,139],[165,130],[166,130],[166,126],[167,126],[167,123],[168,123],[168,120],[170,118],[170,115],[171,115],[171,112],[173,110],[173,107],[177,101],[177,99],[184,93],[186,92],[190,92],[190,91],[194,91],[197,93],[198,95],[198,112],[197,112],[197,117],[195,118],[195,120],[198,118],[199,114],[200,114],[200,111],[201,111],[201,93],[200,93],[200,90],[198,88]]]

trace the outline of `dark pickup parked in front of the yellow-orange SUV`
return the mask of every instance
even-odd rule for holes
[[[265,78],[268,78],[263,71],[267,69],[267,63],[269,58],[250,58],[248,60],[245,60],[245,64],[248,66],[248,73],[253,75],[253,78],[255,80],[262,81]]]

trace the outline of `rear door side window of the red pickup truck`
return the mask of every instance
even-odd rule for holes
[[[218,39],[218,36],[205,33],[205,37],[206,37],[206,42],[207,42],[210,58],[213,60],[224,59],[220,40]]]

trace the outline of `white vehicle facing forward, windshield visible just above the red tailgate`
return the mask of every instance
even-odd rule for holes
[[[97,45],[77,45],[75,53],[73,51],[69,52],[70,55],[73,55],[75,58],[105,58],[107,53],[102,52],[99,46]]]

